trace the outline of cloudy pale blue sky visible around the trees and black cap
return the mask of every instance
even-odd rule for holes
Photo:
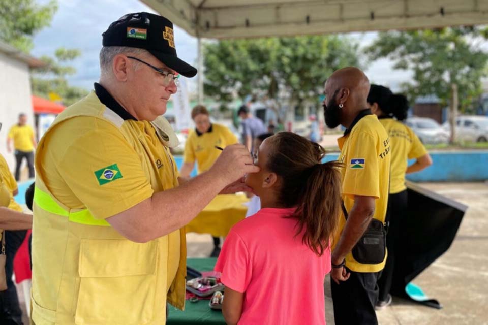
[[[38,0],[46,3],[47,0]],[[102,33],[111,22],[119,17],[138,11],[151,11],[149,7],[137,0],[58,0],[59,8],[51,26],[43,29],[34,38],[34,56],[53,55],[59,47],[78,48],[82,55],[73,62],[76,75],[69,78],[72,85],[92,89],[98,81],[100,69],[98,54],[102,47]],[[197,40],[177,26],[174,38],[178,56],[195,64],[197,61]],[[368,45],[376,37],[374,32],[353,33],[348,35],[361,46]],[[391,62],[378,60],[366,70],[371,81],[397,90],[399,84],[408,80],[410,73],[391,69]],[[190,89],[194,89],[190,84]]]

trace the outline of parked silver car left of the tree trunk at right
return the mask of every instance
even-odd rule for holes
[[[410,117],[405,124],[413,129],[422,143],[439,144],[449,142],[449,132],[432,118]]]

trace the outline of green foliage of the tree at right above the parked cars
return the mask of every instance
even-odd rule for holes
[[[392,59],[394,69],[413,71],[413,80],[402,85],[411,102],[436,94],[446,105],[451,84],[457,84],[460,111],[467,113],[481,94],[480,79],[486,75],[488,54],[478,43],[487,36],[486,27],[382,32],[367,53],[372,59]]]

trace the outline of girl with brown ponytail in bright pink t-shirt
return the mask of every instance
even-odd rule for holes
[[[341,211],[339,163],[291,132],[261,144],[246,184],[261,210],[234,225],[215,270],[228,324],[325,324],[324,279]]]

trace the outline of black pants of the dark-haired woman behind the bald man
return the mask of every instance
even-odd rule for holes
[[[400,228],[406,216],[408,206],[408,193],[404,190],[400,193],[390,194],[389,196],[389,213],[387,213],[386,221],[389,222],[388,233],[386,234],[386,248],[388,249],[388,257],[386,259],[385,268],[378,280],[378,287],[380,289],[379,300],[386,301],[391,289],[391,282],[393,280],[393,271],[395,266],[395,256],[398,248],[396,241],[400,236]]]

